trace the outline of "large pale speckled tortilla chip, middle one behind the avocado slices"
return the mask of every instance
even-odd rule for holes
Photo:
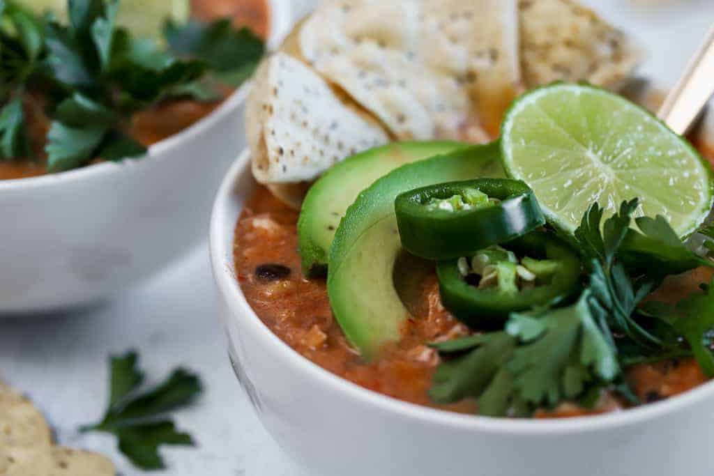
[[[301,51],[396,138],[464,138],[478,106],[518,86],[516,13],[515,0],[332,1]]]

